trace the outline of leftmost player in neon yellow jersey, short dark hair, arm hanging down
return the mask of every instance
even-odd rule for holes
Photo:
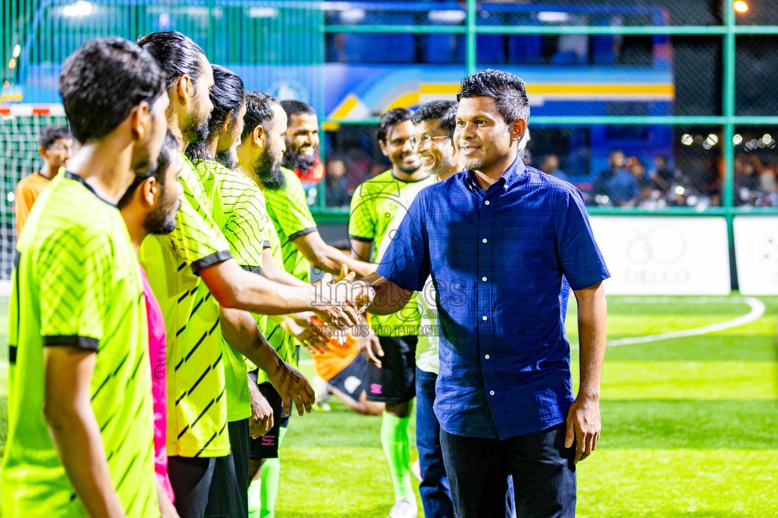
[[[17,246],[2,512],[159,516],[142,284],[114,204],[154,167],[168,98],[153,58],[121,38],[69,56],[60,93],[81,147]]]

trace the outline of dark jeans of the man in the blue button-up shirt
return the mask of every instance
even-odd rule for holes
[[[575,516],[576,445],[565,447],[565,423],[506,440],[441,429],[440,447],[457,518],[503,518],[508,475],[519,518]]]

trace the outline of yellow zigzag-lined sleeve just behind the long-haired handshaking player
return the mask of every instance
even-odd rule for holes
[[[262,193],[247,191],[227,218],[224,237],[230,242],[230,250],[240,266],[262,266],[262,249],[265,242],[270,241],[266,213]]]

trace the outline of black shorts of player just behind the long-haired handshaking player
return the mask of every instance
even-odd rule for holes
[[[227,428],[230,454],[215,459],[205,518],[248,516],[248,419],[229,422]]]

